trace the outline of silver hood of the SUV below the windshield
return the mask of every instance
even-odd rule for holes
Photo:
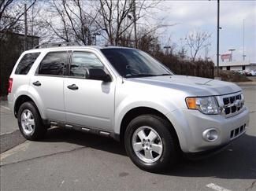
[[[181,90],[191,96],[232,94],[241,90],[235,83],[187,75],[166,75],[127,79],[135,83]]]

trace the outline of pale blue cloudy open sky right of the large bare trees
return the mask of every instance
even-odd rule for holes
[[[211,34],[208,56],[216,62],[217,1],[164,1],[154,14],[166,24],[175,24],[160,32],[163,46],[168,46],[169,37],[180,46],[185,44],[184,38],[189,32],[206,31]],[[243,61],[243,20],[245,60],[256,63],[256,1],[220,2],[220,54],[236,49],[233,61]],[[205,50],[200,54],[204,57]]]

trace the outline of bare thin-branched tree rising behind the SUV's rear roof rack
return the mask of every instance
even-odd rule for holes
[[[91,45],[94,34],[99,27],[95,20],[98,13],[91,11],[90,2],[81,0],[61,0],[50,2],[52,10],[50,15],[54,16],[45,20],[58,39],[65,42],[76,41],[84,45]],[[59,24],[55,22],[58,19]]]

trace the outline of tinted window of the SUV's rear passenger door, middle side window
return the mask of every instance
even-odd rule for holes
[[[43,58],[39,65],[39,75],[64,75],[68,52],[52,52]]]

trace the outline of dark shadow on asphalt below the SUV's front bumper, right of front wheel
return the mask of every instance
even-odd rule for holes
[[[204,160],[183,160],[165,175],[256,179],[256,137],[244,134],[222,152]]]

